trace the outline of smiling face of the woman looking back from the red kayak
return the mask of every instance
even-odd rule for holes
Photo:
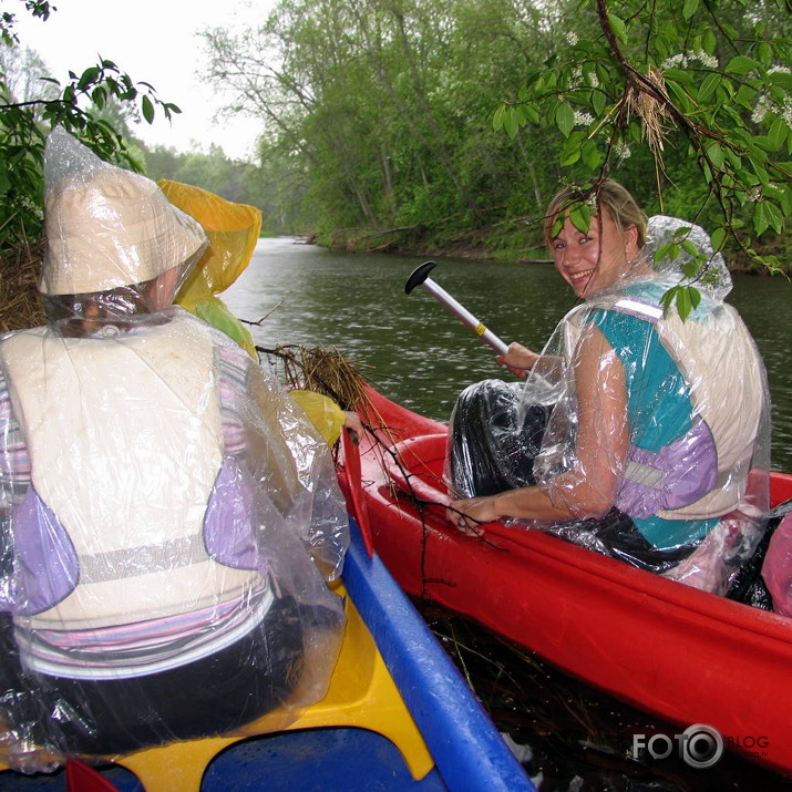
[[[629,226],[620,233],[606,208],[603,216],[601,224],[598,215],[592,217],[584,234],[567,215],[551,245],[556,269],[577,297],[592,297],[613,286],[628,271],[630,259],[638,253],[638,229]]]

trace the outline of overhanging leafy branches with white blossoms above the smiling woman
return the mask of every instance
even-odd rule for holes
[[[586,196],[608,175],[635,173],[628,157],[642,150],[660,209],[681,187],[686,216],[717,220],[716,249],[731,240],[778,270],[778,257],[758,248],[792,214],[789,0],[584,7],[596,11],[597,27],[572,30],[564,49],[526,74],[515,99],[495,111],[495,128],[512,137],[537,126],[560,134],[558,167],[584,187],[573,207],[580,225]],[[692,286],[706,267],[689,275]],[[690,294],[688,286],[677,292]]]

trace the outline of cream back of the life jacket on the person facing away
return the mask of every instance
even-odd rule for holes
[[[32,486],[76,559],[64,596],[27,614],[31,631],[178,616],[266,588],[204,543],[224,451],[207,328],[186,316],[103,338],[37,328],[3,340],[0,362]]]

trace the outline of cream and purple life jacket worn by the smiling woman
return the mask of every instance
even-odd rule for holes
[[[659,491],[666,507],[650,513],[667,520],[708,520],[738,508],[765,409],[763,367],[745,325],[728,305],[685,321],[636,299],[618,299],[610,309],[654,325],[688,383],[693,410],[689,432],[657,454],[629,449],[617,505],[649,516],[635,510],[641,501],[649,507]]]

